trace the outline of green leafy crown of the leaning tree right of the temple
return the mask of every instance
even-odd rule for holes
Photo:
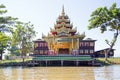
[[[100,28],[101,32],[107,31],[107,27],[110,26],[110,31],[117,29],[117,23],[112,21],[113,19],[120,20],[120,8],[116,7],[114,3],[110,8],[100,7],[97,8],[91,14],[91,19],[89,20],[88,29]],[[120,30],[120,28],[119,28]]]

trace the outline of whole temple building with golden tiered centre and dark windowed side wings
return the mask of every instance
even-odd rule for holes
[[[34,55],[90,55],[99,56],[95,52],[95,41],[80,34],[65,14],[64,7],[48,35],[34,41]],[[99,53],[98,53],[99,52]],[[96,54],[96,55],[95,55]],[[114,55],[112,50],[111,55]]]

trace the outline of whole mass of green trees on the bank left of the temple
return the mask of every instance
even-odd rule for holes
[[[30,53],[33,44],[32,39],[35,37],[33,25],[18,21],[18,18],[11,16],[2,16],[7,10],[0,5],[0,54],[8,48],[11,54],[24,56]]]

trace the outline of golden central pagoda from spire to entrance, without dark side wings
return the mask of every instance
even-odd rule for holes
[[[85,33],[79,34],[77,28],[73,27],[69,17],[65,14],[64,6],[54,28],[50,28],[47,36],[42,34],[43,40],[48,44],[49,53],[56,55],[72,54],[74,51],[78,51],[79,41],[84,37]]]

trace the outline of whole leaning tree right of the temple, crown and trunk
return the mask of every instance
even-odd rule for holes
[[[104,33],[105,31],[111,31],[114,33],[111,41],[105,40],[110,47],[105,54],[105,60],[107,61],[107,55],[114,47],[120,34],[120,8],[116,7],[116,3],[113,3],[110,8],[107,8],[106,6],[99,7],[92,12],[88,29],[93,28],[100,28],[101,33]]]

